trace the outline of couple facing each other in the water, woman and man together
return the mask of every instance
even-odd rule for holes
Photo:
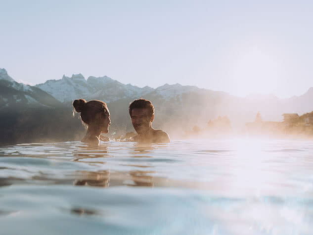
[[[106,103],[100,100],[75,99],[73,106],[81,113],[82,121],[88,125],[87,134],[82,142],[98,145],[101,133],[108,133],[111,125],[110,112]],[[134,141],[139,143],[168,143],[169,135],[152,128],[154,107],[147,99],[135,99],[129,106],[132,124],[137,133]]]

